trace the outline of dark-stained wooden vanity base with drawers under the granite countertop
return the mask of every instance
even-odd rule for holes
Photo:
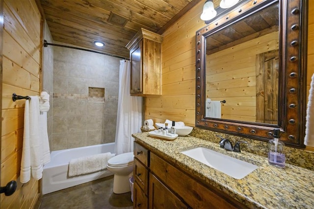
[[[136,141],[133,192],[134,209],[144,205],[150,209],[246,209],[227,194],[195,179]]]

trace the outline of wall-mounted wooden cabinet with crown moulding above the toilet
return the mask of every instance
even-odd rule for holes
[[[161,95],[161,43],[163,37],[139,30],[126,46],[130,50],[132,96]]]

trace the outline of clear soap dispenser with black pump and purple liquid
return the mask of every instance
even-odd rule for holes
[[[268,162],[269,164],[283,168],[285,167],[286,154],[285,144],[280,139],[280,129],[275,128],[274,139],[268,141]]]

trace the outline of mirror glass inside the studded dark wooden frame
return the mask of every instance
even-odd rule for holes
[[[278,49],[278,4],[209,35],[206,117],[277,124]]]

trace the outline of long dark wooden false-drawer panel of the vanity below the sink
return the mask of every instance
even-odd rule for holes
[[[164,159],[158,157],[153,152],[150,153],[151,172],[162,182],[167,183],[167,187],[182,198],[192,208],[195,209],[245,209],[246,207],[233,200],[225,193],[218,191],[214,187],[204,186],[198,181],[184,174]],[[151,177],[151,176],[150,176]],[[151,198],[152,184],[150,179],[149,196]],[[159,195],[161,198],[163,195]],[[149,198],[149,199],[150,199]],[[151,200],[149,200],[151,202]]]

